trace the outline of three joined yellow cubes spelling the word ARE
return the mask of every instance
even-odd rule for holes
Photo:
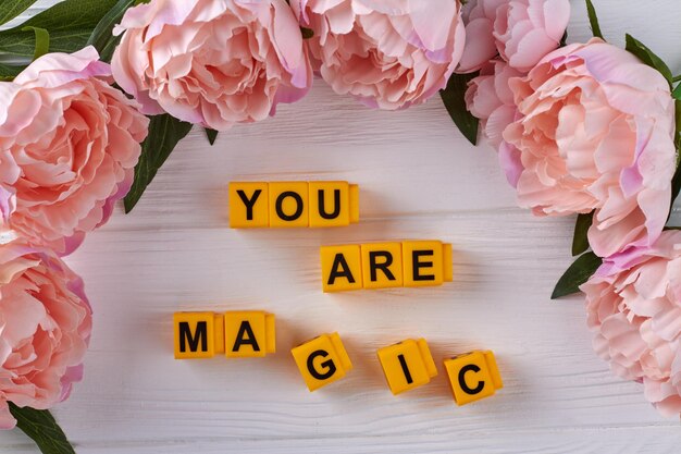
[[[406,241],[322,246],[322,289],[419,287],[453,280],[451,245],[439,241]]]

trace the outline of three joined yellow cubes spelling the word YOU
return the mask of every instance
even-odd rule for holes
[[[331,228],[359,222],[359,186],[347,182],[232,182],[230,226]]]

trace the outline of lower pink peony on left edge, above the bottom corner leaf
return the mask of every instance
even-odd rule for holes
[[[0,244],[0,428],[16,421],[8,402],[46,409],[83,378],[91,309],[83,281],[48,249]]]

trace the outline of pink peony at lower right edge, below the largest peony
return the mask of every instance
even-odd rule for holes
[[[681,413],[681,232],[667,231],[631,269],[607,265],[582,285],[594,349],[610,369],[643,383],[667,416]]]

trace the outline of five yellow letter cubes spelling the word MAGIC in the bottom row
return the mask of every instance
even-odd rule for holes
[[[275,353],[274,316],[259,310],[176,312],[175,358],[263,357]],[[321,334],[290,351],[310,392],[343,379],[352,361],[338,333]],[[437,367],[424,339],[408,339],[376,352],[394,395],[430,383]],[[470,352],[444,360],[457,405],[494,395],[504,386],[494,354]]]

